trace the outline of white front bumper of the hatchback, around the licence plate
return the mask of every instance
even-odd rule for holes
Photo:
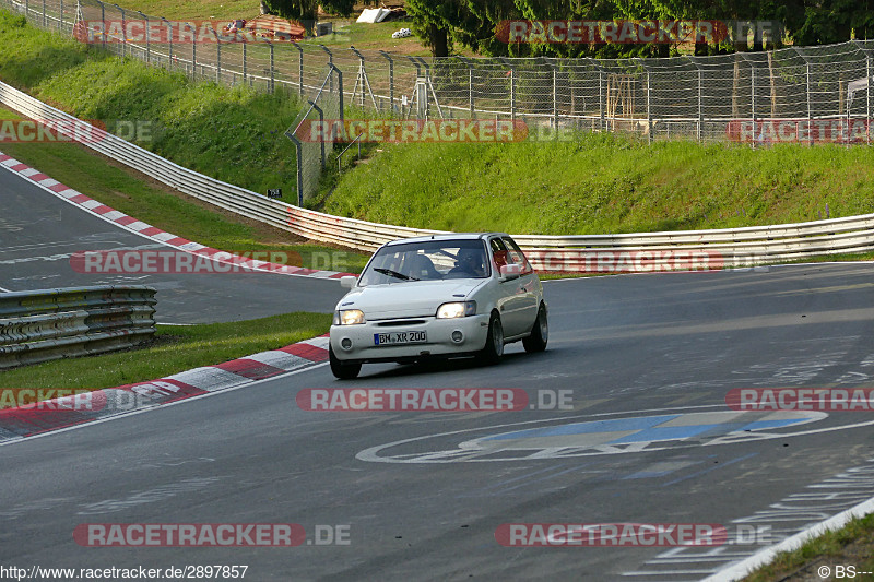
[[[452,356],[479,352],[485,347],[489,316],[437,319],[411,318],[421,323],[398,324],[399,320],[368,321],[361,325],[331,325],[331,348],[340,360],[392,361],[429,356]],[[376,345],[375,334],[394,332],[427,333],[427,342],[403,345]],[[461,332],[462,341],[452,341]]]

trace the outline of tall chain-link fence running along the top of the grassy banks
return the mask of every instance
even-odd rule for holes
[[[331,74],[342,74],[345,103],[381,117],[510,119],[539,139],[572,139],[564,130],[754,145],[870,143],[872,138],[874,41],[669,59],[425,60],[312,43],[174,41],[173,35],[160,34],[155,41],[129,35],[126,25],[145,22],[160,31],[178,23],[98,0],[0,0],[0,5],[62,34],[81,33],[83,23],[85,29],[87,23],[115,23],[90,41],[192,79],[269,92],[284,87],[305,96],[322,91]],[[332,73],[326,76],[326,70]],[[319,156],[321,164],[320,150]],[[300,175],[299,189],[309,195],[315,178],[308,170]]]

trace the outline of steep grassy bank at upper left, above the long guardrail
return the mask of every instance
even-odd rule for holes
[[[296,95],[190,83],[181,73],[120,59],[34,29],[0,11],[0,79],[84,119],[139,123],[132,140],[177,164],[256,192],[296,188],[296,154],[283,132]]]

